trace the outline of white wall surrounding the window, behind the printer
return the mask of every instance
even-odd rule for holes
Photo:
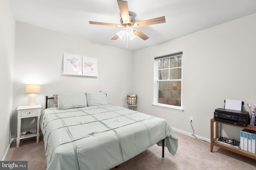
[[[256,14],[134,52],[134,93],[138,111],[210,139],[210,119],[225,99],[256,103]],[[154,57],[183,51],[184,112],[153,107]],[[244,110],[249,111],[247,106]],[[223,136],[239,139],[239,128],[224,126]],[[226,132],[228,134],[226,134]]]

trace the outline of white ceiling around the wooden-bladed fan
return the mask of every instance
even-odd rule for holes
[[[91,25],[89,21],[120,24],[116,0],[10,0],[16,20],[87,40],[137,51],[256,13],[256,0],[127,0],[136,21],[165,16],[166,23],[138,27],[146,41],[111,40],[121,27]],[[255,22],[255,21],[254,21]]]

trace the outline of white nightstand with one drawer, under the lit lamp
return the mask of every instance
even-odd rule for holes
[[[16,139],[16,147],[20,147],[20,139],[26,139],[30,137],[36,137],[36,142],[39,142],[39,130],[40,130],[40,117],[41,117],[41,108],[40,104],[36,106],[19,106],[18,117],[17,117],[17,139]],[[37,117],[37,129],[36,135],[28,136],[28,137],[20,137],[21,134],[21,119],[28,117]]]

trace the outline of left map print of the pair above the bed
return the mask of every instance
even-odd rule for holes
[[[63,53],[63,74],[82,75],[82,56]]]

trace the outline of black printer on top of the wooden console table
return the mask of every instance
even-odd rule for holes
[[[250,115],[248,111],[218,108],[214,111],[214,120],[247,126],[250,123]]]

